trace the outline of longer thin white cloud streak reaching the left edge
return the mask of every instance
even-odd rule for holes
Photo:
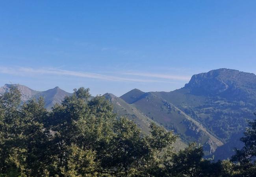
[[[125,78],[125,77],[116,77],[111,75],[102,75],[97,73],[89,72],[80,72],[80,71],[69,71],[56,68],[7,68],[0,67],[0,73],[10,74],[10,75],[31,75],[34,74],[48,74],[48,75],[60,75],[60,76],[74,76],[74,77],[83,77],[83,78],[95,78],[100,80],[109,80],[109,81],[118,81],[118,82],[164,82],[164,83],[173,83],[166,80],[147,80],[147,79],[137,79],[137,78]]]

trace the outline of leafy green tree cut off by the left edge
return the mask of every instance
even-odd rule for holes
[[[9,92],[0,97],[0,174],[19,174],[24,170],[24,157],[19,153],[24,149],[15,144],[22,141],[19,137],[20,92],[11,87]],[[19,153],[19,154],[18,154]]]

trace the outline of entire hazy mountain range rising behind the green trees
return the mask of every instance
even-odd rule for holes
[[[42,96],[47,109],[72,94],[58,87],[40,92],[14,85],[22,93],[23,102]],[[0,94],[10,86],[1,87]],[[150,122],[156,122],[180,136],[177,149],[196,141],[202,144],[206,155],[226,159],[234,147],[241,146],[238,140],[247,126],[246,119],[254,119],[256,75],[217,69],[193,75],[184,88],[170,92],[145,93],[133,89],[121,97],[111,93],[104,97],[113,103],[118,117],[133,119],[145,133]]]

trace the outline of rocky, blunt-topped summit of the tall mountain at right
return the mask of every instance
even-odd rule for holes
[[[193,75],[184,88],[195,95],[219,95],[222,97],[248,99],[256,97],[256,75],[235,69],[215,69]]]

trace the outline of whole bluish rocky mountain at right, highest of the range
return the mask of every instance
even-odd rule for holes
[[[218,159],[227,157],[224,154],[230,157],[233,149],[240,147],[236,135],[245,131],[247,119],[255,119],[256,76],[252,73],[212,70],[193,75],[184,88],[155,94],[197,120],[211,135],[224,142],[223,148],[216,149]],[[212,146],[204,146],[204,149],[214,150]]]

